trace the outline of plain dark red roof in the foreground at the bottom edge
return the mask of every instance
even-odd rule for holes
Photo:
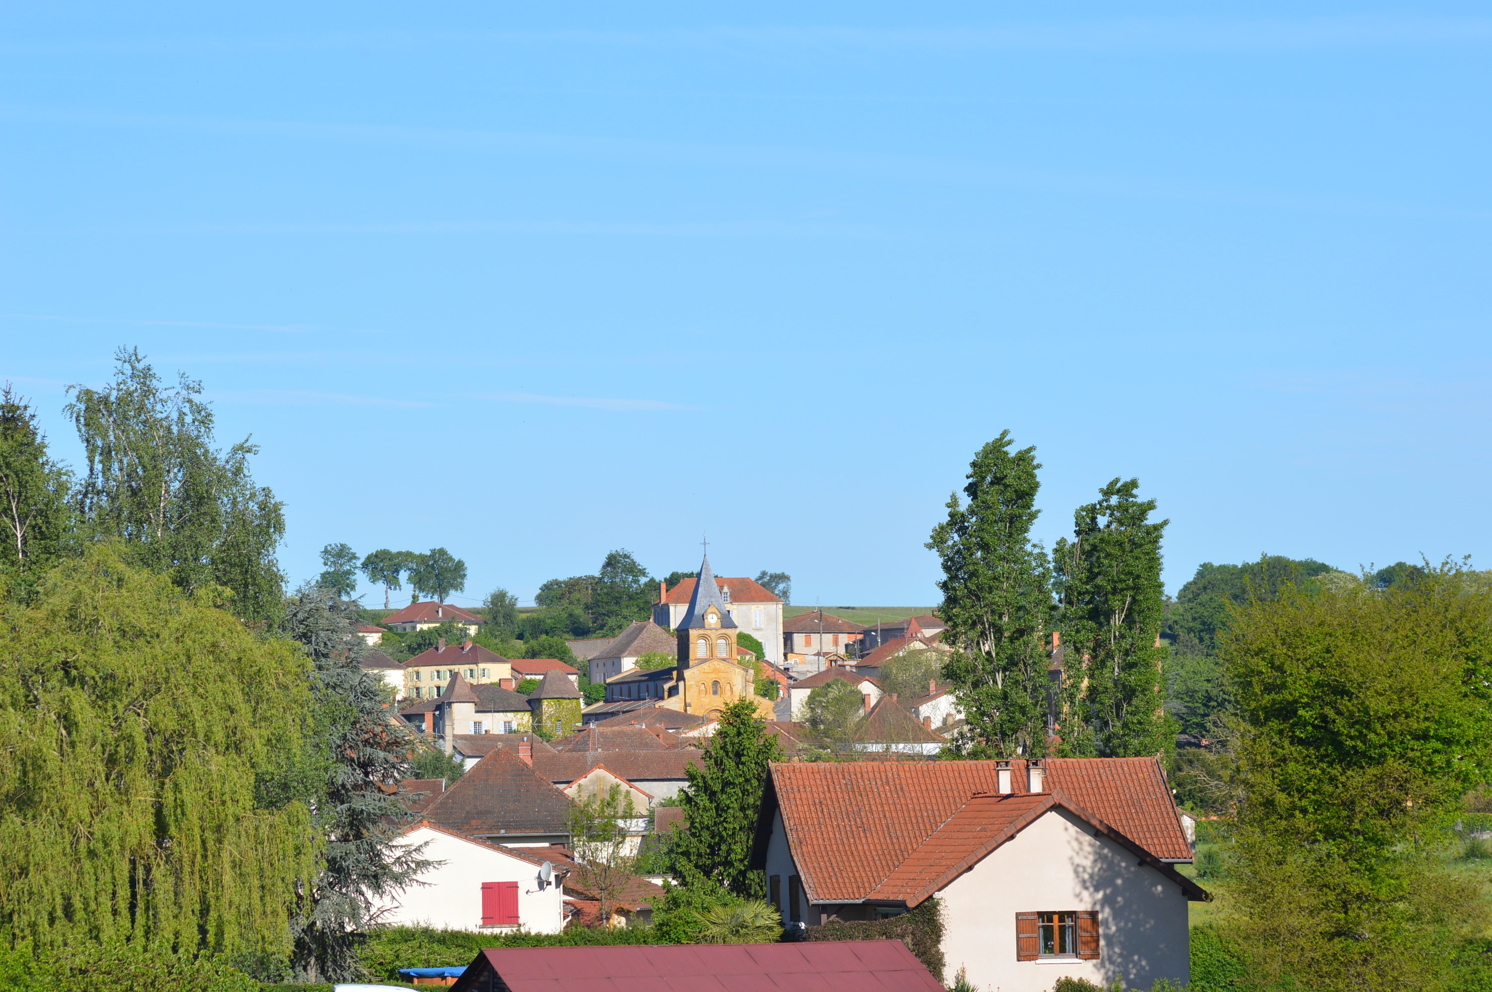
[[[489,985],[509,992],[943,992],[900,940],[489,947],[451,992]]]

